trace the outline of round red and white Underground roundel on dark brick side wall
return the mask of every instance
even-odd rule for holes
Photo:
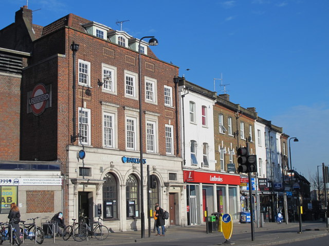
[[[29,105],[35,115],[40,115],[46,108],[49,94],[43,84],[38,84],[32,91],[31,98],[29,98]]]

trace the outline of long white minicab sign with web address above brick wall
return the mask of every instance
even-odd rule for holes
[[[61,178],[0,177],[0,186],[61,186]]]

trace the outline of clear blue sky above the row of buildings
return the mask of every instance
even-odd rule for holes
[[[0,29],[26,4],[1,0]],[[28,8],[41,26],[68,13],[113,29],[130,20],[123,30],[156,36],[154,53],[180,67],[180,76],[214,90],[222,73],[233,103],[255,107],[298,137],[291,141],[293,166],[306,178],[329,165],[328,0],[28,0]]]

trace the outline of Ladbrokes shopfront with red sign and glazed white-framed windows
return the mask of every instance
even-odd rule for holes
[[[229,213],[234,221],[239,220],[240,175],[184,170],[184,182],[188,225],[205,223],[206,210],[208,215]]]

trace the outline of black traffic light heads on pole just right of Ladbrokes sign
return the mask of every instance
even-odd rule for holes
[[[239,167],[237,171],[239,173],[254,173],[257,172],[257,155],[248,155],[248,150],[246,147],[237,149],[237,163]]]

